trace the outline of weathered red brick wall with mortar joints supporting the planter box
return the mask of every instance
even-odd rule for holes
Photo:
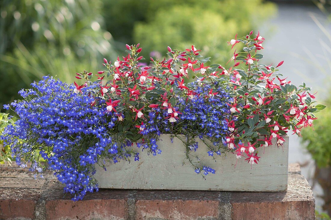
[[[73,202],[49,174],[36,182],[0,166],[0,219],[315,219],[315,199],[297,164],[279,193],[100,190]]]

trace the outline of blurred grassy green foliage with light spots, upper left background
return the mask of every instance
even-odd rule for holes
[[[0,2],[0,104],[43,75],[72,82],[102,57],[115,58],[112,35],[102,29],[102,1],[2,0]]]

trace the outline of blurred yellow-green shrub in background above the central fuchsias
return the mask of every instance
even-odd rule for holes
[[[114,38],[139,42],[145,57],[151,51],[164,55],[167,46],[183,50],[195,45],[223,64],[233,53],[227,41],[236,33],[248,34],[276,12],[273,3],[262,0],[110,0],[106,5]]]

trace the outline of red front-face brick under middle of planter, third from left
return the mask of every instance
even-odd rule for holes
[[[217,218],[217,200],[138,200],[136,219],[181,219]]]

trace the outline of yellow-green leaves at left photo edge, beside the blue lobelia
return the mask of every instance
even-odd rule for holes
[[[14,121],[11,118],[8,118],[8,114],[0,113],[0,135],[2,135],[2,132],[4,131],[5,127],[12,123],[14,123]],[[3,141],[0,140],[0,163],[5,162],[11,164],[11,150],[10,146],[8,145],[4,147]]]

